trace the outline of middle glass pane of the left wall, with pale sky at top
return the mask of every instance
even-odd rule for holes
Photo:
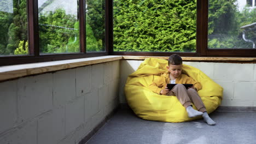
[[[38,0],[39,50],[80,52],[78,0]]]

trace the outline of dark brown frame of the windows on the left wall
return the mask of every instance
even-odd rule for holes
[[[27,31],[28,31],[28,49],[29,55],[22,56],[0,56],[0,66],[60,61],[65,59],[86,58],[96,56],[109,55],[109,1],[105,1],[105,51],[101,52],[86,52],[86,28],[85,28],[85,0],[79,0],[79,33],[80,33],[80,52],[77,53],[54,53],[54,54],[39,54],[39,33],[38,33],[38,1],[27,0]]]

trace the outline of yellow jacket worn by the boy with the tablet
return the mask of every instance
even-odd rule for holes
[[[170,83],[170,73],[166,72],[161,74],[161,76],[154,76],[153,83],[148,87],[155,93],[160,94],[162,89],[165,89],[167,83]],[[192,77],[189,77],[186,74],[181,74],[178,78],[176,78],[176,83],[179,84],[193,84],[197,91],[202,88],[200,82],[195,81]]]

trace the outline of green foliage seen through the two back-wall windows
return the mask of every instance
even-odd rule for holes
[[[238,11],[237,0],[210,0],[209,48],[252,48],[240,27],[256,22],[256,9]],[[114,1],[114,51],[194,52],[196,1]],[[255,31],[246,37],[256,41]]]

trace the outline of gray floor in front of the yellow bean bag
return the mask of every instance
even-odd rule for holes
[[[213,112],[216,125],[202,119],[184,123],[144,121],[121,109],[88,141],[93,143],[256,143],[256,112]]]

